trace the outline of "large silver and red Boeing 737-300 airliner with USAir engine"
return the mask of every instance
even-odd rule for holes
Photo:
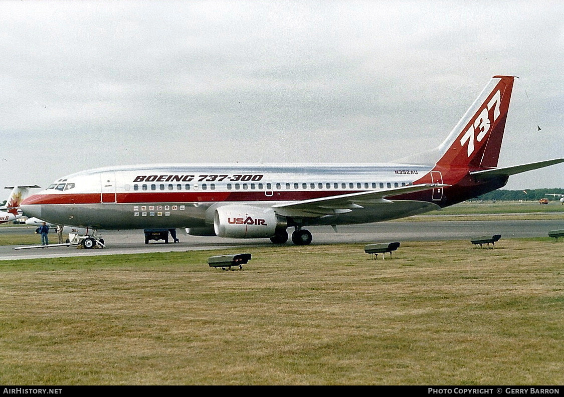
[[[505,186],[564,158],[497,167],[514,76],[494,76],[437,148],[389,164],[157,164],[68,175],[25,214],[94,229],[188,228],[191,235],[312,241],[311,225],[426,213]]]

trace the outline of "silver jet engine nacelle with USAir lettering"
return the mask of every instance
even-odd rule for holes
[[[215,209],[213,226],[219,237],[259,239],[274,236],[276,229],[285,228],[286,223],[271,208],[224,205]]]

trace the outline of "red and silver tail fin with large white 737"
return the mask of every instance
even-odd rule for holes
[[[448,138],[437,166],[496,167],[507,120],[513,76],[493,76]]]

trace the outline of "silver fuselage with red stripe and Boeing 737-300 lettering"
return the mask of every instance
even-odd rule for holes
[[[208,209],[227,204],[274,204],[355,192],[379,191],[413,183],[443,183],[433,166],[406,164],[279,164],[106,167],[68,175],[28,197],[27,215],[55,224],[100,229],[205,227]],[[466,174],[467,171],[464,170]],[[432,174],[432,175],[431,175]],[[446,182],[445,182],[446,183]],[[446,206],[460,201],[442,189],[395,196],[396,200]],[[465,198],[462,198],[464,200]],[[436,206],[434,206],[435,209]],[[408,215],[428,211],[411,208]],[[377,222],[398,215],[355,211],[319,217],[307,224]],[[413,212],[413,213],[412,213]]]

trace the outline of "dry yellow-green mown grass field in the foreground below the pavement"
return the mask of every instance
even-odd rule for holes
[[[564,243],[0,262],[0,382],[560,385]]]

